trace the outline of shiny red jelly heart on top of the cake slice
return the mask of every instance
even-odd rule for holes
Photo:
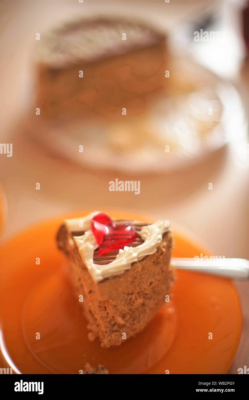
[[[99,256],[123,249],[124,246],[133,243],[137,237],[133,226],[116,225],[108,215],[102,212],[92,219],[92,231],[99,245]]]

